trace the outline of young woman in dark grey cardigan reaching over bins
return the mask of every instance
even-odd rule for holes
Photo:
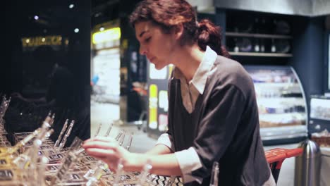
[[[145,0],[130,16],[140,54],[157,69],[175,66],[169,80],[169,130],[146,154],[97,137],[85,150],[116,168],[179,175],[185,185],[209,185],[219,162],[219,185],[275,185],[259,135],[255,90],[242,66],[225,56],[219,28],[196,20],[184,0]]]

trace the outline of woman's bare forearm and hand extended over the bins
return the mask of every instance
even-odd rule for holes
[[[111,171],[116,171],[118,161],[121,159],[123,163],[123,170],[126,172],[141,171],[147,161],[152,162],[151,173],[159,175],[183,175],[181,168],[176,159],[176,155],[161,154],[138,154],[129,152],[123,147],[119,146],[118,142],[111,137],[95,137],[90,140],[86,140],[82,147],[90,156],[104,161],[108,164]],[[168,147],[157,147],[161,152],[168,152]]]

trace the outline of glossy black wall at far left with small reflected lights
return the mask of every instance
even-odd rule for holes
[[[74,7],[69,8],[70,4],[74,4]],[[6,93],[7,96],[18,92],[26,99],[48,97],[51,92],[56,94],[56,100],[62,99],[56,101],[56,104],[47,101],[37,105],[34,101],[25,103],[20,99],[12,99],[10,104],[12,108],[10,107],[8,111],[14,113],[18,106],[22,111],[26,111],[24,109],[26,105],[32,108],[29,112],[36,115],[51,110],[57,116],[54,135],[59,134],[63,120],[69,118],[76,120],[71,137],[76,135],[87,139],[90,136],[88,118],[90,117],[91,2],[13,0],[4,2],[2,13],[4,13],[2,23],[5,47],[1,50],[0,92]],[[39,20],[35,20],[35,15],[39,16]],[[75,28],[78,28],[79,32],[74,32]],[[49,35],[61,36],[61,46],[42,45],[29,49],[22,46],[23,37]],[[67,44],[64,42],[66,39]],[[54,63],[63,67],[61,70],[65,68],[57,74],[59,76],[54,75],[56,74]],[[68,82],[72,82],[70,86]],[[68,101],[63,101],[64,99]],[[62,104],[58,104],[59,102]],[[68,141],[71,140],[73,139]]]

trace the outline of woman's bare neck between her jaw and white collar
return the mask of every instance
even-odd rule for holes
[[[185,80],[193,80],[198,66],[202,62],[205,51],[200,50],[197,44],[193,46],[183,46],[176,55],[176,61],[173,63],[176,68],[181,70]]]

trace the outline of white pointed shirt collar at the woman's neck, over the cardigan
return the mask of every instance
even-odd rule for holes
[[[207,73],[212,70],[214,62],[216,61],[216,56],[218,56],[216,52],[207,46],[205,54],[202,58],[202,62],[200,63],[200,66],[198,66],[193,76],[193,80],[189,82],[189,84],[193,84],[196,87],[200,94],[203,94],[204,92],[204,88],[207,82]],[[178,68],[174,68],[173,77],[180,79],[181,82],[186,82],[183,73],[181,73]]]

